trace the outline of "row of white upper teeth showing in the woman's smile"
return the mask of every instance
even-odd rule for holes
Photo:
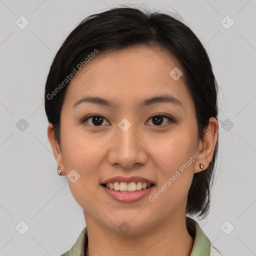
[[[142,188],[145,189],[150,186],[151,183],[147,182],[118,182],[115,181],[113,183],[106,183],[106,187],[114,190],[120,190],[120,191],[135,191],[135,190],[141,190]]]

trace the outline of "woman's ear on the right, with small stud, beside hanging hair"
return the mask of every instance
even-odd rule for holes
[[[207,129],[204,132],[203,140],[199,140],[197,150],[201,153],[196,159],[194,173],[205,170],[212,159],[214,148],[218,138],[218,121],[214,117],[209,118]],[[203,164],[203,169],[199,167]]]

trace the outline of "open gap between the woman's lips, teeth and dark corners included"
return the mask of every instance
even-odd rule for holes
[[[126,193],[134,193],[141,190],[148,189],[151,186],[154,186],[154,183],[147,183],[147,182],[109,182],[109,183],[102,183],[102,186],[108,188],[109,190],[114,190],[117,192],[126,192]]]

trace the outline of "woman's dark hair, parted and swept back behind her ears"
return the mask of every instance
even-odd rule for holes
[[[60,145],[60,111],[68,83],[49,97],[52,91],[95,49],[100,53],[141,44],[164,48],[178,60],[195,106],[198,138],[203,138],[209,118],[217,119],[218,87],[202,43],[187,25],[169,14],[121,6],[83,19],[64,40],[52,61],[45,84],[44,106]],[[188,214],[200,218],[208,214],[217,151],[218,139],[209,166],[193,176],[186,204]]]

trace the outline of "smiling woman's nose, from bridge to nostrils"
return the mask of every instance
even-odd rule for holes
[[[116,134],[112,139],[107,154],[109,164],[132,168],[146,163],[147,147],[142,136],[137,132],[136,125],[131,125],[126,131],[117,126]]]

